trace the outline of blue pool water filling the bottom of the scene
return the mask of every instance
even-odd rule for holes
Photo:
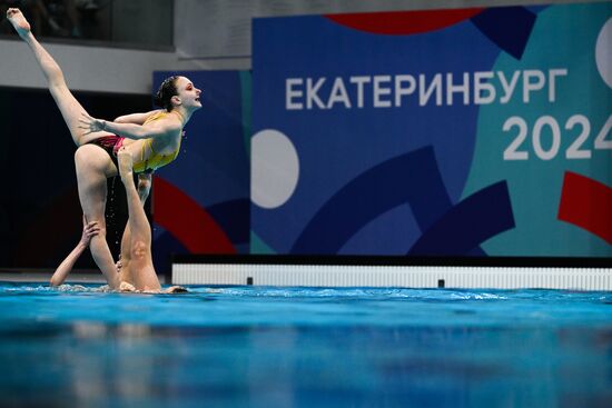
[[[612,406],[612,292],[189,290],[0,282],[0,406]]]

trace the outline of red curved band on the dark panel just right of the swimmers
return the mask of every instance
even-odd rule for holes
[[[154,219],[191,253],[236,253],[231,241],[194,199],[160,177],[154,177]]]

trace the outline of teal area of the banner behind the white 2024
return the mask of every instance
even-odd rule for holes
[[[532,92],[525,103],[516,92],[505,105],[499,101],[482,106],[478,115],[476,146],[463,197],[499,180],[506,180],[516,228],[482,245],[491,256],[612,256],[612,246],[575,226],[557,220],[563,175],[566,170],[612,186],[612,150],[595,150],[594,140],[612,113],[612,89],[603,81],[595,62],[598,36],[612,17],[612,3],[554,6],[541,11],[521,60],[501,53],[493,71],[511,77],[514,71],[567,69],[556,80],[556,99],[549,101],[549,88]],[[520,89],[521,82],[519,84]],[[590,159],[567,159],[565,152],[581,128],[566,130],[567,119],[583,115],[591,125],[582,149]],[[510,117],[527,123],[527,138],[520,146],[527,160],[504,161],[504,150],[519,130],[503,131]],[[542,116],[556,120],[561,132],[557,155],[542,160],[534,151],[534,123]],[[608,136],[610,139],[611,136]],[[541,132],[544,150],[551,147],[547,127]],[[612,210],[612,209],[611,209]]]

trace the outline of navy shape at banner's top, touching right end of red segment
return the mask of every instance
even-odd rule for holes
[[[523,56],[536,16],[524,7],[487,9],[472,22],[497,47],[517,60]]]

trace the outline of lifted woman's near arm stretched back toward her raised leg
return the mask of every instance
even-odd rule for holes
[[[108,131],[124,138],[138,140],[158,138],[179,132],[182,128],[182,123],[178,118],[164,118],[147,125],[116,123],[96,119],[83,113],[80,119],[79,128],[86,130],[83,135],[96,131]]]

